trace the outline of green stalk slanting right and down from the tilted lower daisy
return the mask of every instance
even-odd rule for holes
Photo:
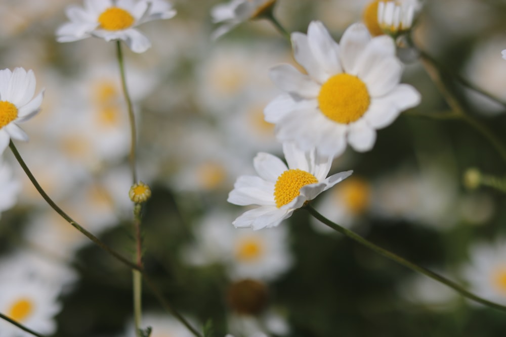
[[[481,303],[483,305],[486,305],[488,307],[491,307],[491,308],[494,308],[494,309],[498,309],[498,310],[502,310],[502,311],[506,311],[506,306],[502,306],[500,304],[497,304],[497,303],[494,303],[494,302],[490,302],[490,301],[487,301],[467,290],[465,290],[464,288],[462,288],[460,285],[458,285],[457,283],[439,275],[439,274],[436,274],[435,272],[429,270],[429,269],[426,269],[424,267],[421,267],[421,266],[418,266],[417,264],[415,263],[412,263],[386,249],[383,249],[379,246],[376,246],[375,244],[371,243],[369,240],[363,238],[362,236],[356,234],[355,232],[349,230],[349,229],[346,229],[330,220],[328,220],[327,218],[325,218],[323,215],[321,215],[320,213],[318,213],[318,211],[316,211],[311,205],[306,205],[304,207],[304,209],[306,209],[312,216],[314,216],[316,219],[318,219],[319,221],[321,221],[322,223],[324,223],[325,225],[329,226],[330,228],[340,232],[341,234],[344,234],[346,236],[348,236],[349,238],[351,238],[352,240],[354,240],[355,242],[369,248],[370,250],[380,254],[380,255],[383,255],[384,257],[394,261],[394,262],[397,262],[413,271],[416,271],[416,272],[419,272],[419,273],[422,273],[426,276],[429,276],[430,278],[438,281],[438,282],[441,282],[447,286],[449,286],[450,288],[452,288],[454,291],[456,291],[457,293],[459,293],[460,295],[462,296],[465,296],[467,297],[468,299],[470,300],[473,300],[475,302],[478,302],[478,303]]]

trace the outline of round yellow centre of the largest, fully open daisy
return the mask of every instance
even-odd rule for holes
[[[358,120],[369,108],[367,86],[358,77],[337,74],[321,86],[318,94],[320,111],[334,122],[348,124]]]

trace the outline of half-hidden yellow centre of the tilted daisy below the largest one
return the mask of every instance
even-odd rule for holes
[[[280,208],[288,204],[301,194],[300,189],[302,186],[314,184],[315,182],[318,182],[318,179],[309,172],[300,169],[284,171],[274,185],[276,207]]]

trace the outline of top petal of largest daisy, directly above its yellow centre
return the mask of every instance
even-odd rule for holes
[[[355,62],[363,52],[371,37],[367,28],[361,23],[348,27],[341,37],[341,64],[348,73],[354,69]]]

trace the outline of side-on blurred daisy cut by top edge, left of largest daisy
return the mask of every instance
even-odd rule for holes
[[[275,3],[276,0],[231,0],[228,4],[213,7],[213,22],[222,23],[222,26],[213,32],[213,38],[218,38],[240,23],[272,10]]]

